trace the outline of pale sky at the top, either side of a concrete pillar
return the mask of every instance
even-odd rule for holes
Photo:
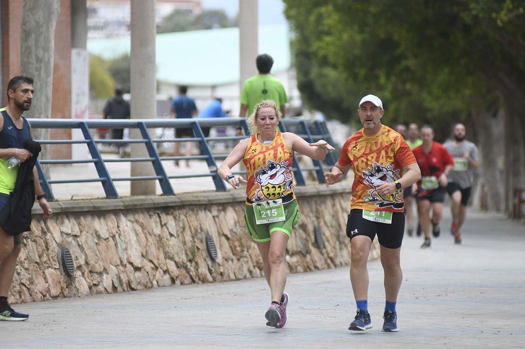
[[[233,17],[239,12],[239,1],[241,0],[202,0],[202,6],[205,9],[223,9],[228,17]],[[259,25],[287,23],[284,9],[282,0],[259,0]]]

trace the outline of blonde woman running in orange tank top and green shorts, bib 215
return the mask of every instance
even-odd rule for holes
[[[274,101],[261,101],[248,118],[253,133],[243,139],[220,165],[218,174],[233,188],[246,183],[245,221],[253,237],[270,286],[271,304],[266,311],[266,325],[282,328],[286,325],[288,294],[285,253],[293,227],[299,221],[299,207],[293,193],[292,161],[295,151],[312,159],[324,160],[326,141],[307,143],[301,137],[276,131],[280,112]],[[232,167],[243,160],[246,180],[234,176]]]

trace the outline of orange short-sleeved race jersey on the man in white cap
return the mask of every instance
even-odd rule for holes
[[[387,198],[375,190],[384,182],[400,179],[403,168],[416,162],[406,141],[392,128],[382,125],[373,136],[366,136],[364,129],[354,133],[344,143],[338,162],[354,170],[351,209],[404,211],[402,190]]]

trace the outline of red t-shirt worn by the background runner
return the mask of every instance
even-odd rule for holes
[[[415,147],[412,152],[416,157],[422,177],[436,176],[436,178],[439,178],[447,165],[454,165],[454,159],[450,156],[447,149],[436,141],[432,142],[429,154],[425,153],[423,145]],[[417,188],[421,189],[421,181],[417,182]]]

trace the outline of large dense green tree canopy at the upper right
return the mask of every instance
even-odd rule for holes
[[[448,130],[495,103],[503,80],[525,82],[519,1],[284,2],[299,89],[328,117],[356,120],[359,99],[373,93],[389,125]]]

